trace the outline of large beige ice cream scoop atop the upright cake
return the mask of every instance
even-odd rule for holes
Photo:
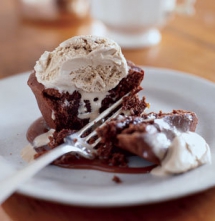
[[[46,88],[69,93],[107,92],[128,74],[120,46],[91,35],[70,38],[54,51],[44,52],[34,69]]]

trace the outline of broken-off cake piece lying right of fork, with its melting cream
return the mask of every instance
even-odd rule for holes
[[[124,149],[159,165],[154,174],[177,174],[211,161],[208,144],[195,133],[197,123],[196,114],[184,110],[120,115],[97,134],[104,148]]]

